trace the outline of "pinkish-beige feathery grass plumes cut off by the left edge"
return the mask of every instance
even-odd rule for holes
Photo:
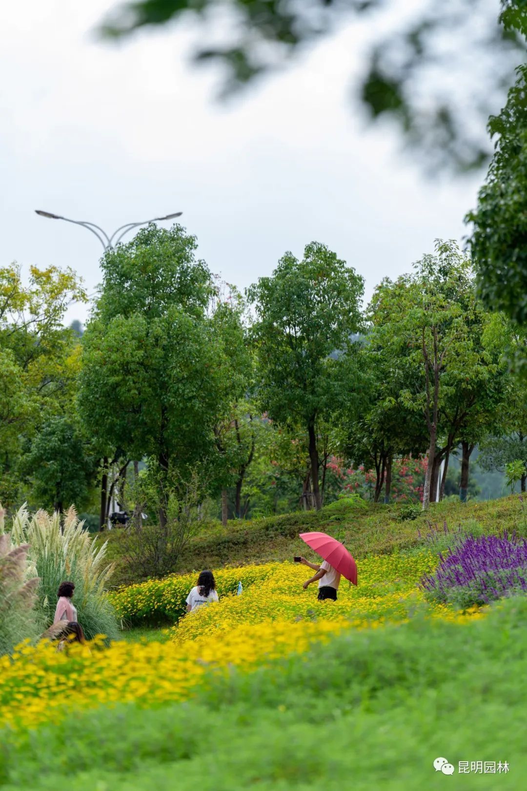
[[[34,607],[39,578],[31,577],[28,548],[13,547],[9,536],[0,536],[0,654],[38,631]]]

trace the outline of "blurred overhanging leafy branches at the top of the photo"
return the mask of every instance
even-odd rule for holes
[[[224,66],[226,96],[369,14],[374,36],[356,85],[359,104],[371,119],[395,119],[428,169],[483,165],[491,154],[487,117],[499,111],[514,67],[525,59],[527,0],[426,0],[406,21],[397,14],[386,35],[382,15],[395,6],[393,0],[128,0],[100,29],[122,38],[194,17],[200,27],[194,62]],[[220,44],[218,27],[227,32]]]

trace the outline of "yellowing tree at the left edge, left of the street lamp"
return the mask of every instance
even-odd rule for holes
[[[17,496],[16,467],[23,441],[73,399],[79,349],[62,325],[66,308],[85,301],[72,270],[0,269],[0,474],[2,499]]]

